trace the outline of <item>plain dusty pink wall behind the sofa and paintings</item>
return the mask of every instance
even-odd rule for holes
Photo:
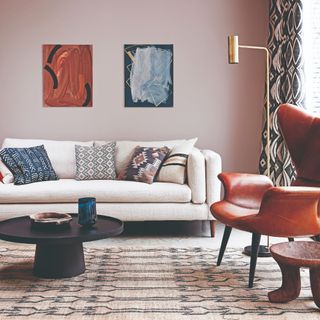
[[[175,139],[256,172],[264,56],[227,64],[227,35],[265,45],[267,0],[1,0],[0,140]],[[93,108],[43,108],[41,45],[93,45]],[[123,45],[174,44],[174,107],[124,108]]]

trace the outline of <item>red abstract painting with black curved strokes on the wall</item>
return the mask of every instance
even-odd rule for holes
[[[92,107],[92,46],[43,45],[45,107]]]

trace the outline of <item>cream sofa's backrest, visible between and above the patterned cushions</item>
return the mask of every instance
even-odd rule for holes
[[[119,173],[125,169],[129,162],[134,148],[141,147],[162,147],[173,146],[185,141],[181,140],[168,140],[168,141],[117,141],[116,144],[116,171]],[[95,141],[96,145],[101,145],[107,141]],[[110,141],[108,141],[110,142]],[[75,159],[75,145],[92,146],[93,141],[57,141],[57,140],[40,140],[40,139],[12,139],[7,138],[4,140],[3,148],[26,148],[37,145],[44,145],[47,150],[48,156],[51,160],[52,166],[57,175],[61,179],[74,179],[76,176],[76,159]]]

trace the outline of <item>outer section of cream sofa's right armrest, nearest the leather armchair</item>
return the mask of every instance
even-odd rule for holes
[[[221,183],[218,175],[222,170],[221,157],[211,150],[201,151],[206,163],[206,198],[209,207],[212,203],[219,201],[221,196]]]

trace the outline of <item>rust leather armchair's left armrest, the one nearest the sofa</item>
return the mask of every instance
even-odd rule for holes
[[[264,193],[272,181],[264,175],[223,172],[218,178],[224,186],[224,199],[250,209],[259,209]]]

